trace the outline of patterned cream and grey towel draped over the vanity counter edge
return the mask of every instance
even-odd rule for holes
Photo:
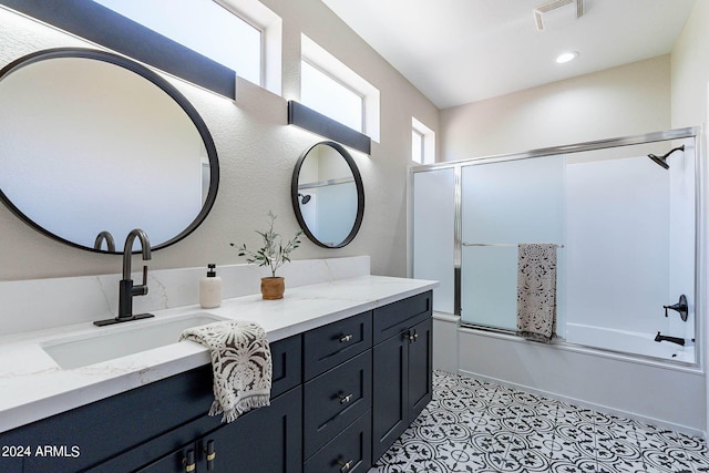
[[[246,411],[270,404],[270,348],[258,323],[208,323],[186,329],[179,340],[193,340],[209,349],[214,370],[209,415],[224,413],[222,422],[233,422]]]

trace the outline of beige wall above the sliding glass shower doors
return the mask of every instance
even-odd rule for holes
[[[518,153],[670,127],[670,56],[441,111],[441,157]]]

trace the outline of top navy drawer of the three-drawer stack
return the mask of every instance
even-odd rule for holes
[[[304,335],[306,381],[371,348],[372,312],[349,317]]]

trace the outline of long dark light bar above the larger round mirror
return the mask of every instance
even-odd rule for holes
[[[236,100],[236,73],[113,10],[88,0],[0,0],[17,12]]]

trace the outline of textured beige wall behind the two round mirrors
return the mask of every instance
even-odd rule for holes
[[[405,276],[405,179],[411,156],[411,116],[438,132],[438,109],[346,27],[319,0],[265,0],[282,18],[284,97],[244,80],[233,103],[181,81],[171,81],[195,105],[215,140],[222,181],[205,223],[185,240],[153,255],[151,267],[178,268],[240,263],[230,241],[258,244],[269,209],[277,229],[298,229],[290,177],[302,151],[319,138],[286,124],[286,100],[298,99],[300,34],[319,42],[381,92],[381,141],[371,156],[356,154],[366,191],[358,237],[342,249],[305,240],[294,259],[370,255],[372,273]],[[0,66],[40,49],[81,41],[0,10]],[[84,44],[85,45],[85,44]],[[122,244],[120,245],[122,247]],[[44,237],[0,205],[0,280],[120,273],[121,257],[74,249]]]

